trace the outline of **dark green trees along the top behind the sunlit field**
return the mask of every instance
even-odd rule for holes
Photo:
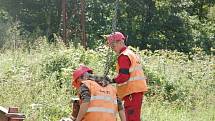
[[[41,35],[49,38],[53,33],[61,35],[61,1],[0,2],[0,10],[3,11],[0,18],[4,21],[7,18],[13,18],[13,22],[18,21],[18,28],[21,29],[18,31],[33,38],[25,40],[29,45]],[[85,28],[89,48],[101,46],[105,42],[99,35],[111,33],[114,2],[85,1]],[[81,40],[80,4],[80,0],[67,0],[68,40],[75,45]],[[140,49],[168,49],[189,53],[192,48],[198,47],[210,54],[211,49],[214,49],[214,4],[214,0],[119,0],[116,29],[129,36],[128,45]],[[8,17],[5,17],[5,13]]]

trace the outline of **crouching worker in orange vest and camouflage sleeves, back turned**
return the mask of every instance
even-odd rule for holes
[[[116,89],[104,81],[107,78],[89,78],[92,73],[92,69],[83,65],[73,73],[72,85],[78,89],[80,97],[80,110],[75,121],[116,121],[118,111],[121,121],[126,121]]]

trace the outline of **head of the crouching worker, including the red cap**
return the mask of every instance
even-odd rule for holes
[[[91,68],[88,68],[85,65],[81,65],[79,68],[77,68],[74,72],[73,72],[73,81],[72,81],[72,86],[74,86],[75,88],[79,88],[81,81],[84,80],[84,75],[87,75],[89,73],[93,73]]]

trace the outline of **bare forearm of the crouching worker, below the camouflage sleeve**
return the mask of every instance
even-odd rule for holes
[[[87,112],[89,102],[82,103],[78,112],[78,117],[75,121],[81,121]]]

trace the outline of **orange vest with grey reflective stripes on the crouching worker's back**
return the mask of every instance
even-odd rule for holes
[[[102,87],[95,81],[83,81],[90,90],[91,99],[82,121],[116,121],[116,89],[108,85]]]

